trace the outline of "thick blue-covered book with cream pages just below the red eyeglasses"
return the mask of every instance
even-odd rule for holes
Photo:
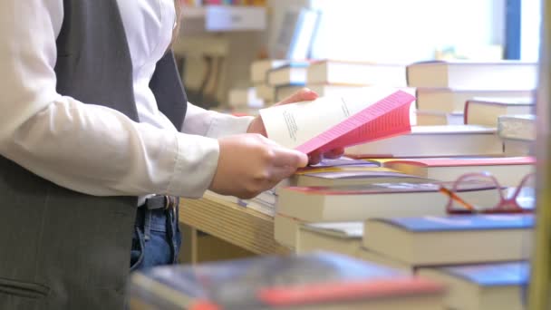
[[[533,228],[532,214],[371,218],[362,244],[413,266],[498,262],[526,259]]]

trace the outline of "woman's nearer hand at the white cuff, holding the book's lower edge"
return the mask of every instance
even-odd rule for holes
[[[209,189],[222,195],[254,198],[308,164],[304,153],[260,134],[227,136],[218,139],[218,144],[218,168]]]

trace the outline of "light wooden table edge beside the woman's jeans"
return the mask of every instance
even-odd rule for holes
[[[184,262],[290,253],[274,240],[273,217],[209,193],[202,199],[181,199],[179,221]]]

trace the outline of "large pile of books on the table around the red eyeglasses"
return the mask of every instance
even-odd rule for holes
[[[275,240],[297,253],[324,249],[436,279],[449,288],[449,308],[520,309],[533,215],[449,215],[449,197],[438,188],[488,172],[510,193],[534,172],[535,70],[517,62],[411,64],[417,125],[346,154],[421,181],[335,179],[280,189]],[[423,121],[425,111],[440,113],[440,121]],[[473,184],[460,196],[493,207],[499,190],[490,188]],[[530,195],[526,208],[533,206]]]

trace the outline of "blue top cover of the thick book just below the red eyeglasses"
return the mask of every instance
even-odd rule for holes
[[[456,215],[377,220],[412,232],[534,228],[533,214]]]

